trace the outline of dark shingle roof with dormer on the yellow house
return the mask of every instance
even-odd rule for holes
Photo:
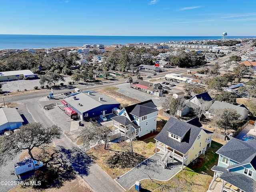
[[[201,130],[202,128],[196,127],[194,125],[182,122],[171,117],[165,124],[162,131],[154,139],[170,146],[171,148],[174,148],[182,154],[186,154],[186,152],[188,152],[188,150],[193,145]],[[185,136],[182,141],[179,142],[170,138],[168,136],[168,132],[171,132],[178,136],[183,136],[185,134]]]

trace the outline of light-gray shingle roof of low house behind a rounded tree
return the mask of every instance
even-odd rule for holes
[[[234,109],[237,111],[238,114],[241,115],[242,119],[246,119],[248,117],[248,110],[245,107],[233,105],[227,102],[221,102],[221,101],[214,101],[212,106],[206,111],[206,117],[212,118],[214,116],[214,113],[218,110],[222,110],[225,108]]]

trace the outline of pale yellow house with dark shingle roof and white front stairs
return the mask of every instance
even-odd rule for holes
[[[170,118],[162,131],[154,138],[157,149],[164,153],[157,164],[162,167],[167,166],[167,160],[172,157],[172,162],[178,160],[184,165],[188,165],[201,154],[204,154],[207,146],[211,146],[212,134],[208,130],[199,128],[192,124]]]

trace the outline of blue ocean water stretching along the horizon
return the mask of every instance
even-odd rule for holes
[[[256,38],[256,36],[227,36]],[[72,35],[1,35],[0,50],[27,48],[56,48],[82,46],[83,44],[161,43],[168,41],[218,40],[221,36],[72,36]]]

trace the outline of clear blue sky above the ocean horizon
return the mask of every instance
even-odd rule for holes
[[[0,0],[0,34],[256,36],[256,0]]]

